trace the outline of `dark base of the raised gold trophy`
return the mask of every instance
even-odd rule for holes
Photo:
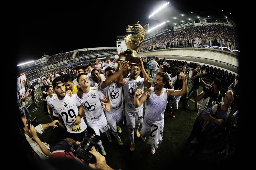
[[[137,57],[135,50],[128,49],[124,53],[119,54],[117,62],[129,61],[129,65],[140,66],[140,57]]]

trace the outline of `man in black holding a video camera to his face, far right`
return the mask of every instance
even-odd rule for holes
[[[220,93],[221,88],[221,81],[220,79],[214,79],[211,85],[206,84],[204,86],[203,91],[197,95],[195,101],[198,102],[201,99],[201,105],[198,108],[198,113],[196,116],[196,120],[193,125],[193,129],[190,133],[190,136],[187,139],[186,145],[183,147],[183,151],[189,150],[189,145],[192,142],[192,140],[197,141],[197,128],[200,126],[201,122],[201,113],[210,108],[211,106],[215,105],[216,103],[223,102],[222,95]]]

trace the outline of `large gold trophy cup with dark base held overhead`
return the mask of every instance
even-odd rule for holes
[[[147,27],[148,31],[148,23],[142,27],[138,21],[137,24],[129,25],[126,28],[124,39],[128,49],[124,53],[119,54],[118,62],[127,60],[130,65],[140,66],[140,57],[137,57],[136,50],[147,36],[145,27]]]

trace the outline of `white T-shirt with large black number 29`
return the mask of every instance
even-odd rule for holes
[[[58,111],[69,133],[81,133],[87,126],[81,119],[80,124],[73,124],[74,119],[78,116],[78,107],[82,105],[82,100],[76,95],[66,95],[62,100],[56,98],[52,105]]]

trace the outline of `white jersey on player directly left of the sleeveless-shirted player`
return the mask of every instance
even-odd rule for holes
[[[143,109],[143,105],[138,108],[134,106],[134,93],[137,89],[144,90],[144,78],[138,77],[136,80],[131,78],[125,78],[124,89],[124,101],[125,101],[125,111],[126,112],[137,112]]]

